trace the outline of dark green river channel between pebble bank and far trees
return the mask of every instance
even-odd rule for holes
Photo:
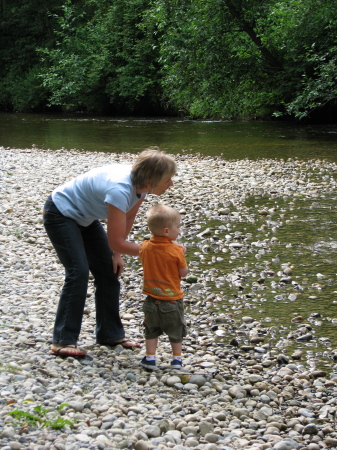
[[[336,125],[193,121],[175,118],[0,114],[0,145],[136,153],[157,145],[171,153],[226,159],[326,158],[337,161]]]

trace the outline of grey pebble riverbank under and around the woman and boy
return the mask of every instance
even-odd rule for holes
[[[244,301],[269,282],[276,296],[296,297],[301,285],[291,265],[275,269],[259,259],[277,237],[257,242],[235,224],[245,220],[254,228],[263,216],[266,229],[277,229],[281,219],[268,220],[272,211],[252,214],[245,201],[317,201],[335,192],[336,164],[177,156],[176,186],[160,201],[181,211],[191,249],[184,281],[189,335],[183,371],[170,369],[163,338],[159,370],[149,373],[139,366],[143,349],[95,343],[92,284],[80,336],[88,356],[49,355],[63,270],[42,225],[43,203],[63,181],[111,161],[132,161],[132,155],[0,148],[0,160],[2,450],[337,448],[334,349],[328,348],[331,370],[305,364],[300,348],[286,352],[278,345],[279,329],[224,306],[227,291],[235,289],[240,304],[247,286]],[[150,198],[144,211],[157,200]],[[221,223],[218,229],[207,226],[212,220]],[[131,234],[135,240],[147,234],[143,214]],[[236,264],[238,254],[252,252],[260,266]],[[231,270],[223,273],[216,267],[226,259]],[[140,286],[139,263],[129,258],[121,316],[127,335],[143,342]],[[315,318],[308,316],[292,318],[296,328],[286,340],[315,339]]]

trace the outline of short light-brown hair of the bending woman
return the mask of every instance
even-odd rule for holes
[[[143,189],[150,181],[152,187],[157,186],[165,175],[173,176],[177,171],[175,160],[166,153],[148,148],[142,151],[131,169],[131,180],[134,186]]]

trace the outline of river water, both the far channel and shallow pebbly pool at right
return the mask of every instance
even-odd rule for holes
[[[337,163],[337,125],[116,118],[82,114],[0,114],[0,146],[4,147],[137,153],[153,145],[169,153],[222,156],[227,160],[318,158]],[[336,173],[331,177],[336,179]],[[269,250],[268,255],[264,255],[262,249],[261,258],[268,259],[271,264],[272,261],[290,262],[294,279],[298,280],[305,294],[294,295],[293,286],[289,286],[289,292],[285,291],[283,298],[269,292],[269,295],[248,297],[241,304],[225,302],[223,309],[252,315],[269,326],[280,326],[281,323],[285,336],[296,329],[296,325],[290,325],[291,318],[302,315],[314,327],[316,339],[301,345],[308,359],[318,360],[324,366],[327,352],[337,348],[335,195],[330,193],[318,202],[297,198],[291,204],[282,198],[254,197],[247,200],[247,207],[252,205],[279,211],[289,222],[287,227],[278,230],[280,244]],[[207,217],[203,220],[205,226],[216,228],[219,225],[209,223]],[[263,239],[263,224],[258,225],[237,223],[235,231],[251,232],[258,241]],[[188,256],[190,263],[200,264],[194,252],[189,251]],[[208,259],[206,256],[204,264],[207,269],[213,264],[216,270],[225,274],[235,265],[252,266],[257,261],[253,254],[238,260],[235,256],[225,257],[221,262],[213,255]],[[200,268],[202,270],[202,264]],[[213,290],[232,298],[226,285],[214,286]]]

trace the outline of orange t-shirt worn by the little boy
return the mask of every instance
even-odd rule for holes
[[[183,298],[179,269],[187,264],[180,245],[166,237],[152,236],[141,244],[139,256],[144,270],[143,294],[160,300]]]

